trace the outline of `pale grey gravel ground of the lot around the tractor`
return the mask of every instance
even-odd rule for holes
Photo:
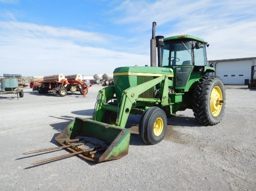
[[[165,139],[145,145],[138,134],[139,115],[128,119],[129,153],[124,158],[93,163],[78,156],[32,166],[67,150],[22,155],[60,146],[54,137],[74,117],[91,118],[101,85],[86,97],[40,95],[24,88],[24,97],[0,94],[0,190],[15,191],[167,191],[256,189],[256,90],[226,86],[222,121],[197,123],[192,110],[168,119]]]

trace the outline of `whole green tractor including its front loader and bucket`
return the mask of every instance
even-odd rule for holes
[[[73,140],[90,141],[93,148],[68,149],[101,162],[120,159],[128,153],[130,133],[125,127],[129,115],[141,115],[139,134],[149,145],[163,140],[167,118],[177,111],[193,109],[196,121],[205,126],[221,121],[225,89],[218,76],[207,75],[215,71],[207,64],[207,42],[190,35],[155,37],[155,25],[153,22],[151,66],[116,68],[114,85],[99,91],[93,120],[75,118],[55,138],[61,145],[67,146]]]

